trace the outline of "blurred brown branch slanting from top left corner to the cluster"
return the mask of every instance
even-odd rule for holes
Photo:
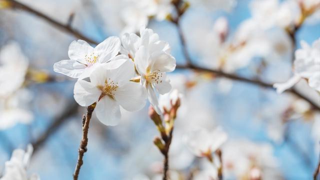
[[[27,11],[33,15],[36,15],[36,16],[44,19],[45,21],[49,22],[50,24],[52,24],[53,26],[57,27],[58,29],[60,29],[62,31],[65,31],[69,34],[72,34],[73,36],[75,36],[79,39],[85,40],[89,43],[97,44],[97,41],[85,36],[84,34],[79,32],[78,30],[73,29],[69,24],[62,24],[62,23],[52,19],[51,17],[45,15],[44,13],[42,13],[38,10],[35,10],[34,8],[32,8],[26,4],[23,4],[21,2],[18,2],[16,0],[7,0],[7,1],[10,3],[10,6],[12,8]]]

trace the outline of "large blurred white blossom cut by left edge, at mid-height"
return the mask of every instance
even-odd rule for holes
[[[28,59],[16,42],[10,42],[0,51],[0,97],[8,96],[24,82]]]

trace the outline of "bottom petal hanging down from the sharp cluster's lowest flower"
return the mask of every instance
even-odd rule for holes
[[[96,103],[94,111],[96,117],[105,125],[116,125],[121,118],[119,105],[108,96]]]

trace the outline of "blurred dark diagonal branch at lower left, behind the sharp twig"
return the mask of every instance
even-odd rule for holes
[[[65,122],[65,120],[76,113],[78,105],[76,103],[70,104],[66,111],[57,117],[51,125],[40,135],[35,141],[32,142],[33,152],[36,152],[44,142]]]

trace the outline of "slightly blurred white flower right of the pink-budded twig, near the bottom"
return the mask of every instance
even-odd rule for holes
[[[217,150],[226,139],[227,134],[220,127],[211,131],[200,128],[186,134],[184,142],[196,156],[201,157]]]

